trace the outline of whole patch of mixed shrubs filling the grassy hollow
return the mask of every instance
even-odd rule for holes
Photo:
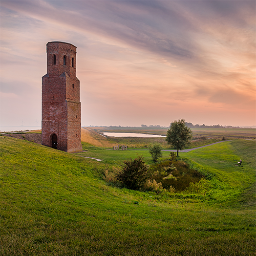
[[[203,181],[204,175],[183,160],[177,160],[171,152],[170,159],[156,164],[147,165],[142,156],[124,161],[122,167],[109,166],[104,170],[104,179],[109,185],[126,187],[135,190],[184,191],[185,193],[205,194],[208,189]]]

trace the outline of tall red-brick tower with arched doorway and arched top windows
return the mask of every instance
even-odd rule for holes
[[[70,153],[82,151],[76,47],[67,42],[47,44],[47,74],[42,77],[42,145]]]

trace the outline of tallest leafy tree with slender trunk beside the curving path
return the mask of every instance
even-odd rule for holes
[[[179,150],[183,150],[185,146],[189,144],[191,138],[191,129],[187,127],[184,119],[179,119],[170,123],[165,140],[168,144],[172,144],[174,148],[177,149],[178,157]]]

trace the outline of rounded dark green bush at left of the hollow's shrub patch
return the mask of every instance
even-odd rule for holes
[[[139,190],[149,177],[148,165],[144,162],[144,158],[139,156],[134,160],[124,161],[123,168],[116,179],[127,188]]]

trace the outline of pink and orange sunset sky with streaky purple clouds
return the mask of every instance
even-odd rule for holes
[[[255,125],[255,1],[0,5],[1,126],[40,125],[49,41],[77,47],[82,125]]]

